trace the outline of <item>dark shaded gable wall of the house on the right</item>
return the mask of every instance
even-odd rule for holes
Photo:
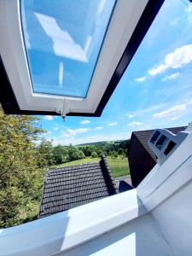
[[[134,134],[131,136],[130,147],[128,149],[128,160],[131,172],[131,182],[133,187],[137,187],[156,163]]]

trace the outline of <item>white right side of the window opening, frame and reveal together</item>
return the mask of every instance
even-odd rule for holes
[[[137,194],[154,216],[176,255],[192,255],[192,134],[162,166],[138,186]]]

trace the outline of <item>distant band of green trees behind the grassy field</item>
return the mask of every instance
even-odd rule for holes
[[[103,142],[79,146],[55,146],[48,141],[43,141],[38,146],[38,166],[61,165],[73,160],[80,160],[86,157],[96,158],[102,154],[118,157],[125,156],[130,141]]]

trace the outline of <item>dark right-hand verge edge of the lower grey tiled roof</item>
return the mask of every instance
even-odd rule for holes
[[[105,179],[106,186],[108,188],[108,194],[109,195],[118,194],[118,188],[116,186],[113,175],[108,166],[108,161],[104,154],[102,155],[102,159],[100,160],[100,165],[101,165],[101,169],[102,169],[102,175]]]

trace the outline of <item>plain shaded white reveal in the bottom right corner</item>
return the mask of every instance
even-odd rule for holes
[[[192,168],[191,168],[192,172]],[[176,255],[192,255],[192,183],[153,210]]]

